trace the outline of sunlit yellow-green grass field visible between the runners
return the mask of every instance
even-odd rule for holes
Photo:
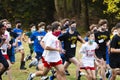
[[[81,46],[81,44],[78,43],[77,51],[76,51],[77,58],[79,58],[78,50],[79,50],[80,46]],[[25,55],[27,55],[29,53],[28,44],[24,43],[24,49],[25,49],[25,53],[26,53]],[[12,78],[13,78],[13,80],[27,80],[29,73],[36,71],[35,67],[28,68],[28,64],[30,61],[26,62],[27,70],[20,70],[19,69],[20,57],[21,57],[20,53],[17,53],[16,54],[16,62],[15,62],[15,64],[12,65]],[[68,70],[70,72],[70,76],[67,76],[67,80],[75,80],[75,66],[73,64],[71,64],[69,66]],[[51,73],[49,72],[48,75],[50,75],[50,74]],[[3,80],[8,80],[8,76],[4,74]],[[40,77],[34,78],[34,80],[40,80]],[[82,76],[81,80],[86,80],[86,78],[84,76]],[[116,80],[120,80],[120,78],[118,77]]]

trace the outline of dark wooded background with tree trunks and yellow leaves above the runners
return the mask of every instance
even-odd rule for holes
[[[111,28],[120,20],[120,0],[0,0],[0,19],[4,18],[13,24],[22,20],[24,28],[40,21],[49,24],[74,18],[85,30],[106,18]]]

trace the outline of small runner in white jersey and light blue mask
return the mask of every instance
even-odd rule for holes
[[[83,63],[82,67],[84,67],[86,70],[87,79],[97,80],[95,75],[94,60],[96,58],[95,49],[98,48],[98,45],[96,42],[94,42],[94,33],[88,32],[87,34],[88,34],[88,42],[82,45],[79,52],[82,53],[83,55],[81,59],[81,63]]]

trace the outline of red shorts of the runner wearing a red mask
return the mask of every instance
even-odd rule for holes
[[[43,57],[41,59],[44,67],[47,67],[47,68],[51,68],[51,67],[62,64],[62,60],[59,60],[58,62],[47,62]]]

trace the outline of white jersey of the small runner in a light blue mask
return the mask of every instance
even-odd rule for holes
[[[95,55],[95,49],[97,48],[97,43],[93,42],[93,44],[89,44],[86,42],[82,45],[80,48],[80,52],[82,53],[82,62],[84,66],[94,67],[94,55]]]

